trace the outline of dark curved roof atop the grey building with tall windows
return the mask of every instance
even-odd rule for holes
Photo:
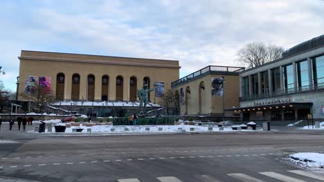
[[[289,50],[285,50],[282,52],[282,58],[289,57],[293,54],[298,54],[300,52],[304,52],[306,50],[311,50],[312,48],[316,48],[318,46],[324,45],[324,34],[321,36],[310,39],[309,41],[305,41],[303,43],[299,43]]]

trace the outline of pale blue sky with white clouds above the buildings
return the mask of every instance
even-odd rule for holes
[[[288,49],[324,34],[323,10],[322,0],[1,0],[0,81],[16,90],[21,50],[178,60],[180,77],[242,66],[246,43]]]

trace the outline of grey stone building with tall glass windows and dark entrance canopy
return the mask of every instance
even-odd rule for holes
[[[229,110],[244,121],[324,119],[324,35],[240,72],[240,107]]]

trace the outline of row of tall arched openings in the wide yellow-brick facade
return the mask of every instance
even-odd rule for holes
[[[64,73],[57,74],[56,82],[56,100],[64,100],[64,89],[65,89],[65,75]],[[124,78],[122,76],[116,77],[116,101],[123,101],[123,84]],[[150,88],[150,78],[144,77],[143,84],[147,84]],[[87,101],[94,101],[95,99],[95,85],[96,77],[93,74],[87,76]],[[109,76],[107,74],[101,77],[101,100],[108,101],[109,99]],[[72,85],[71,85],[71,100],[80,100],[80,74],[72,75]],[[136,101],[136,89],[137,89],[137,78],[130,77],[129,79],[129,101]],[[150,100],[150,95],[148,96]]]

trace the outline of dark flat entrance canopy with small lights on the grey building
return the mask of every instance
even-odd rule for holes
[[[266,110],[266,109],[305,109],[305,108],[311,108],[313,103],[274,103],[274,104],[268,104],[268,105],[252,105],[242,108],[230,108],[226,110],[232,110],[232,111],[250,111],[250,110]]]

